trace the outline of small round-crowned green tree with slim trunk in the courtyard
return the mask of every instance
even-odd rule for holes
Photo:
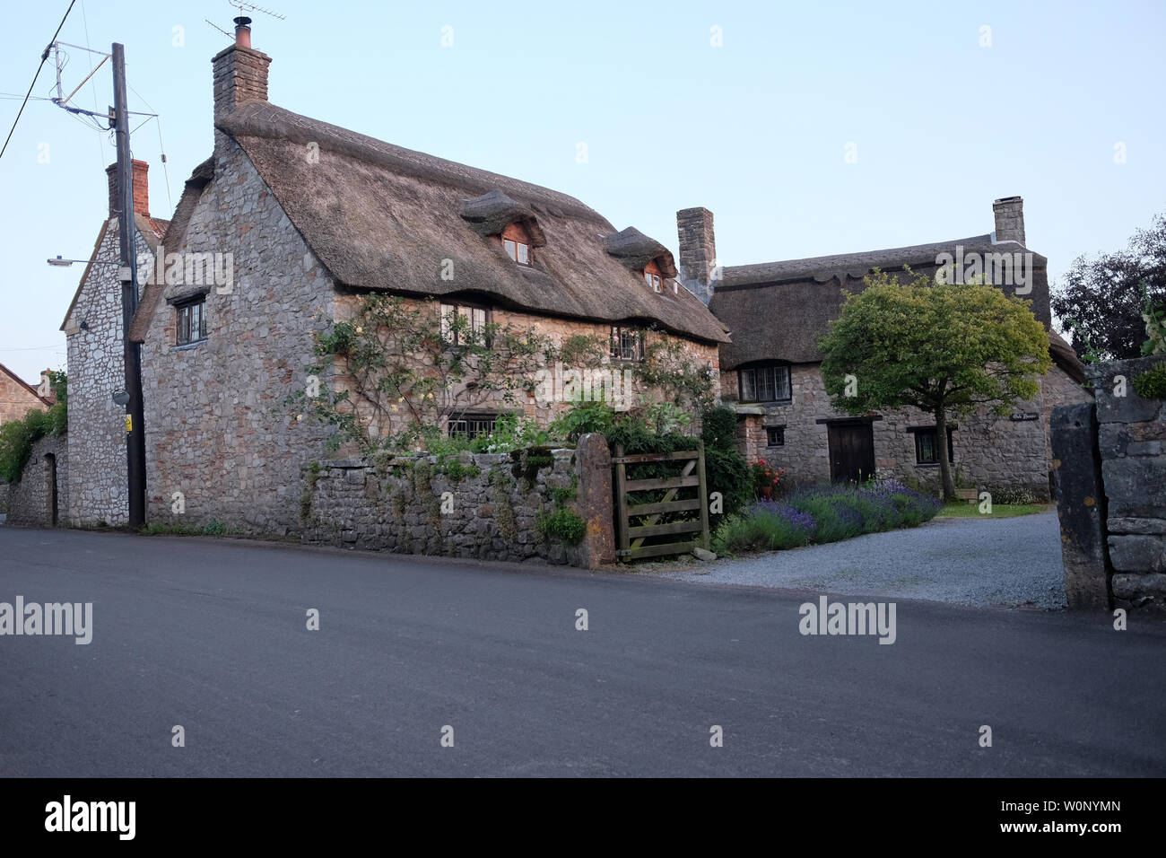
[[[907,272],[911,275],[911,272]],[[979,284],[908,284],[876,271],[847,297],[820,343],[834,406],[850,414],[913,406],[935,417],[943,496],[955,497],[948,418],[1006,414],[1052,368],[1048,334],[1027,301]]]

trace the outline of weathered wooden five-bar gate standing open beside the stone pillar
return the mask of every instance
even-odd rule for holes
[[[624,455],[616,445],[616,557],[637,560],[644,557],[683,554],[695,547],[709,547],[709,498],[704,483],[704,445],[682,453],[637,453]],[[628,480],[628,465],[669,462],[675,476]],[[694,473],[695,472],[695,473]],[[695,496],[681,493],[695,490]],[[630,503],[631,493],[660,493],[662,496]],[[667,519],[667,521],[661,521]]]

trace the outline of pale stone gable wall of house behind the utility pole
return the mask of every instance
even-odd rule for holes
[[[99,261],[120,257],[118,218],[111,217],[97,249]],[[139,280],[154,256],[135,232]],[[139,286],[141,288],[141,285]],[[80,323],[85,322],[85,329]],[[70,526],[120,526],[129,519],[126,482],[126,409],[113,393],[126,388],[121,337],[121,281],[117,265],[93,265],[65,320],[69,354]],[[148,421],[147,421],[148,424]]]

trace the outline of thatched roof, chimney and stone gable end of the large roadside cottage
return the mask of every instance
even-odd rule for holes
[[[189,265],[154,277],[131,328],[149,518],[173,519],[181,502],[192,525],[297,526],[300,468],[324,455],[329,427],[281,404],[304,389],[314,334],[370,293],[433,297],[475,323],[538,323],[556,340],[604,337],[617,362],[638,360],[652,329],[716,371],[725,328],[675,281],[663,245],[564,194],[268,103],[272,58],[237,23],[212,61],[213,154],[160,250],[167,266],[199,260],[203,277],[191,282]],[[492,419],[471,417],[479,430]]]

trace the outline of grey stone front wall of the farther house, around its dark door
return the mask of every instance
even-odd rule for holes
[[[749,461],[766,462],[786,470],[788,483],[829,482],[828,424],[820,419],[845,418],[830,405],[819,364],[795,364],[791,368],[791,402],[778,405],[743,406],[744,411],[764,411],[743,416],[738,431],[742,453]],[[738,396],[736,371],[723,372],[722,395],[733,405]],[[732,397],[732,399],[730,399]],[[1016,411],[1041,413],[1035,403],[1020,403]],[[885,412],[874,420],[876,476],[894,477],[908,484],[937,490],[937,465],[918,465],[915,439],[908,427],[934,426],[935,419],[916,409]],[[953,473],[957,484],[989,491],[1002,488],[1024,489],[1040,500],[1048,497],[1047,423],[1045,419],[1011,420],[982,411],[970,418],[954,420]],[[785,426],[785,445],[766,445],[767,426]]]

